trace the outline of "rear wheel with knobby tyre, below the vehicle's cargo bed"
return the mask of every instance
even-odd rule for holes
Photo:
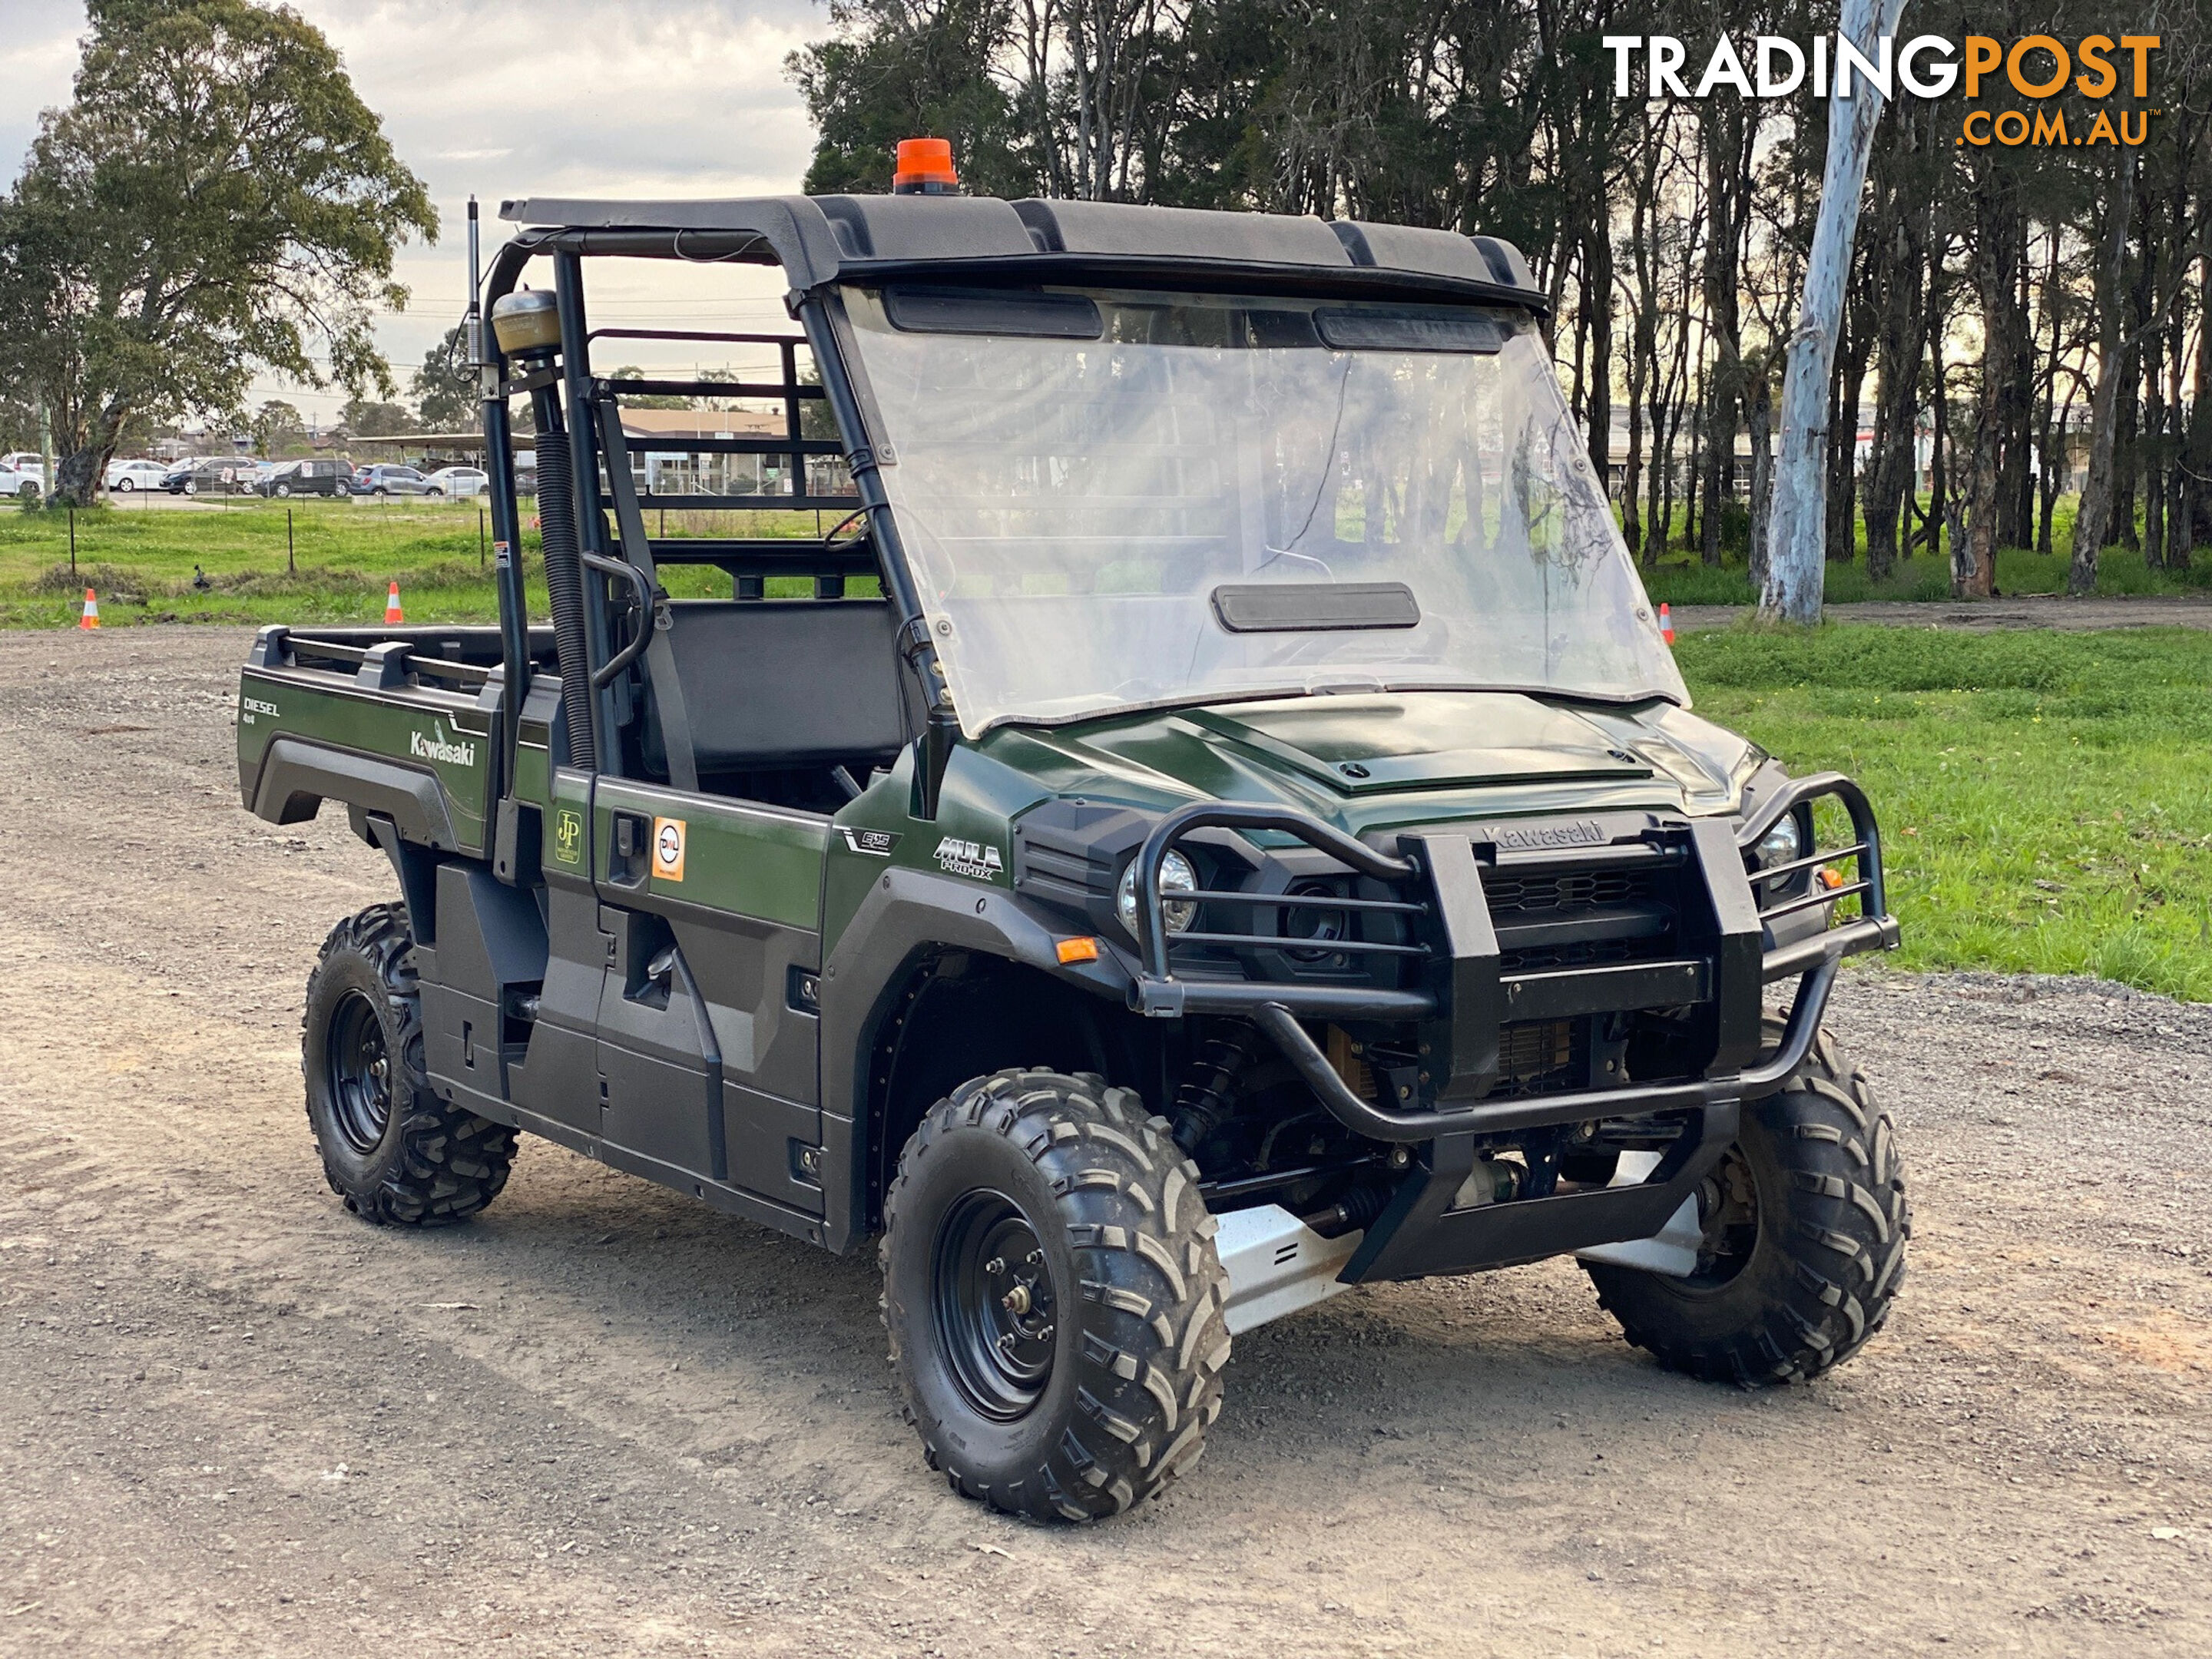
[[[429,1091],[411,947],[398,905],[330,929],[307,978],[301,1066],[330,1190],[365,1221],[427,1228],[500,1194],[515,1133]]]

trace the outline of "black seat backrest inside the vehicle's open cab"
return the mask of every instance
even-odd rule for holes
[[[883,599],[677,599],[668,617],[701,774],[880,759],[920,730]]]

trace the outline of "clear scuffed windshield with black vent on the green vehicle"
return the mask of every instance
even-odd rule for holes
[[[975,296],[847,307],[969,734],[1318,690],[1688,703],[1526,316],[1093,292],[982,334]]]

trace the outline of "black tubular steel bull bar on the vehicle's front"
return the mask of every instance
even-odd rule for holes
[[[1743,852],[1774,823],[1832,796],[1851,816],[1851,843],[1756,876]],[[1425,902],[1374,907],[1422,911],[1433,920],[1431,964],[1422,989],[1360,984],[1283,984],[1256,980],[1177,980],[1168,967],[1168,929],[1159,872],[1177,838],[1201,827],[1276,830],[1345,867],[1398,887],[1427,887]],[[1820,1031],[1829,991],[1845,956],[1893,949],[1898,922],[1887,911],[1880,830],[1865,792],[1836,772],[1796,779],[1765,796],[1741,823],[1677,821],[1661,834],[1686,838],[1710,900],[1708,936],[1697,958],[1599,969],[1500,971],[1475,843],[1467,830],[1422,830],[1380,852],[1301,812],[1245,803],[1199,803],[1155,825],[1137,854],[1137,945],[1141,971],[1130,1004],[1155,1018],[1188,1013],[1241,1015],[1283,1051],[1314,1097],[1345,1128],[1376,1141],[1420,1148],[1391,1201],[1343,1270],[1347,1283],[1422,1279],[1648,1239],[1666,1225],[1736,1137],[1741,1108],[1778,1091],[1803,1064]],[[1626,856],[1637,847],[1577,849],[1553,863]],[[1829,887],[1820,872],[1856,860],[1856,878]],[[1803,896],[1761,894],[1796,872],[1816,872]],[[1834,905],[1860,900],[1860,916],[1834,920]],[[1237,900],[1237,894],[1192,898]],[[1343,900],[1334,900],[1343,902]],[[1827,927],[1770,945],[1774,922],[1820,909]],[[1270,942],[1270,940],[1259,940]],[[1287,940],[1274,940],[1287,942]],[[1358,947],[1354,947],[1358,949]],[[1405,947],[1369,947],[1407,953]],[[1763,989],[1796,978],[1781,1044],[1759,1053]],[[1575,1093],[1484,1099],[1498,1082],[1498,1031],[1509,1018],[1595,1013],[1604,1009],[1714,1002],[1719,1044],[1703,1077],[1582,1088]],[[1420,1106],[1385,1106],[1354,1093],[1301,1020],[1413,1022],[1433,1033],[1449,1071],[1436,1097]],[[1484,1139],[1511,1130],[1555,1128],[1597,1119],[1686,1113],[1683,1130],[1659,1166],[1637,1186],[1548,1194],[1453,1208]]]

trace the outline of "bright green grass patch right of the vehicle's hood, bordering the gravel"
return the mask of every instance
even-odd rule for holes
[[[1882,821],[1905,967],[2099,973],[2212,1002],[2212,635],[1688,635],[1708,719]]]

